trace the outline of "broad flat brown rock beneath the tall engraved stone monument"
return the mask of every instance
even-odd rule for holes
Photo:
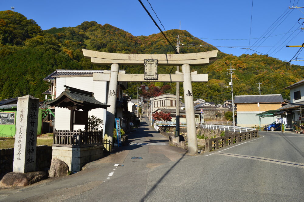
[[[14,173],[10,172],[3,176],[0,181],[1,188],[25,187],[30,184],[47,179],[47,172]]]

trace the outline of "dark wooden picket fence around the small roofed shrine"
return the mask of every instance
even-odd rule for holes
[[[88,147],[97,145],[103,145],[102,130],[70,131],[54,129],[53,146]]]

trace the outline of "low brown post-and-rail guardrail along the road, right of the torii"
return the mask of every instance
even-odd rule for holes
[[[243,142],[245,140],[249,140],[252,138],[258,137],[258,131],[250,131],[250,132],[243,132],[234,135],[226,135],[223,137],[213,138],[213,139],[206,139],[205,140],[205,151],[211,152],[212,150],[219,149],[226,146],[231,146],[237,142]]]

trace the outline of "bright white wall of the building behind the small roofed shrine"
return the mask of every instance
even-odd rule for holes
[[[93,81],[93,77],[58,77],[56,80],[56,97],[58,97],[64,91],[64,85],[67,85],[69,87],[93,92],[96,100],[102,103],[106,103],[107,86],[105,81]],[[89,116],[94,115],[98,118],[101,118],[105,123],[105,113],[106,110],[102,108],[92,109],[89,111]],[[84,127],[84,125],[74,125],[74,130],[83,130]],[[58,107],[55,108],[54,128],[56,130],[70,129],[70,110]]]

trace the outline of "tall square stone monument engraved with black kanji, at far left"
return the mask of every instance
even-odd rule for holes
[[[31,95],[18,98],[13,172],[35,171],[39,99]]]

